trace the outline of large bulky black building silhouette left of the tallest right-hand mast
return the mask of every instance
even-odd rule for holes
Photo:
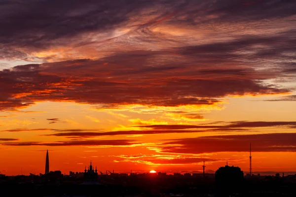
[[[219,167],[215,173],[215,184],[221,196],[240,191],[244,181],[244,172],[240,167],[225,165]]]

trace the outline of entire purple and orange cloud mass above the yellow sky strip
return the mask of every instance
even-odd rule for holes
[[[274,80],[295,81],[293,2],[2,4],[0,58],[47,63],[0,71],[0,110],[45,100],[213,106],[227,96],[292,92]]]

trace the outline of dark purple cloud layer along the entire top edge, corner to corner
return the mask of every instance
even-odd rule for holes
[[[65,44],[82,33],[124,27],[129,22],[138,22],[138,27],[151,26],[171,12],[174,15],[169,23],[198,26],[274,20],[293,16],[295,10],[295,3],[288,0],[2,0],[0,26],[5,31],[0,33],[0,43],[44,48]],[[213,15],[218,19],[209,17]],[[150,20],[141,21],[141,16],[150,16]]]

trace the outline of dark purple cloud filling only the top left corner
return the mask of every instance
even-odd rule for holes
[[[81,33],[108,31],[123,25],[151,3],[151,0],[10,1],[0,8],[0,25],[6,30],[0,33],[0,43],[29,44],[30,48],[65,44]]]

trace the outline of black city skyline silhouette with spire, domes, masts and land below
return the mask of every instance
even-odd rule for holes
[[[250,146],[251,147],[251,146]],[[251,150],[250,150],[251,155]],[[251,156],[250,156],[251,157]],[[5,176],[0,173],[1,195],[30,195],[66,197],[192,197],[192,196],[253,196],[253,197],[293,197],[295,196],[296,174],[276,173],[272,176],[244,174],[239,166],[219,167],[215,173],[167,173],[149,172],[130,173],[98,170],[90,161],[83,172],[60,170],[49,171],[49,151],[46,150],[45,173],[39,175]],[[251,160],[250,160],[250,166]],[[250,172],[252,169],[250,168]],[[10,190],[8,188],[17,188]]]

